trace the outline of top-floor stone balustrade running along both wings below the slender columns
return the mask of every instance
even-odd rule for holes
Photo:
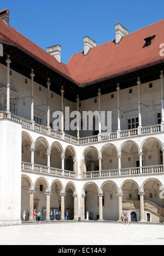
[[[7,118],[7,113],[0,111],[0,118]],[[73,137],[73,136],[67,135],[65,133],[65,136],[62,137],[62,132],[55,131],[53,129],[50,129],[50,131],[49,131],[48,127],[37,124],[37,123],[34,123],[34,128],[32,128],[32,122],[30,120],[26,120],[24,118],[20,118],[20,117],[17,117],[16,115],[12,115],[12,114],[11,114],[11,120],[13,120],[17,123],[21,123],[23,127],[26,127],[28,129],[34,129],[35,131],[41,132],[45,135],[50,135],[55,138],[64,139],[65,141],[73,143],[73,144],[84,145],[84,144],[90,144],[90,143],[95,143],[95,142],[99,141],[97,135],[83,137],[83,138],[78,139],[77,137]],[[157,133],[157,132],[161,132],[160,124],[141,127],[141,129],[140,129],[141,135],[146,135],[149,133]],[[139,134],[138,134],[137,128],[131,129],[131,130],[124,130],[124,131],[120,131],[120,138],[133,137],[133,136],[137,136]],[[110,141],[113,139],[118,139],[117,132],[111,132],[109,134],[102,133],[100,141]]]

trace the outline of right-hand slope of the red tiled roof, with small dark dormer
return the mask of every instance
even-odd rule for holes
[[[144,39],[154,34],[151,46],[143,48]],[[113,40],[92,48],[86,56],[83,51],[74,54],[67,67],[80,84],[92,83],[164,60],[159,54],[161,43],[164,43],[164,20],[128,34],[117,45]]]

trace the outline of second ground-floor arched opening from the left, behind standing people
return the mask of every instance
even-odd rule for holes
[[[45,179],[40,178],[34,187],[34,202],[33,208],[41,212],[41,220],[46,219],[46,195],[45,192],[48,190],[48,184]]]

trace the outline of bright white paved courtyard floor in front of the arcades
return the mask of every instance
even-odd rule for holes
[[[0,245],[164,245],[164,225],[51,223],[0,226]]]

